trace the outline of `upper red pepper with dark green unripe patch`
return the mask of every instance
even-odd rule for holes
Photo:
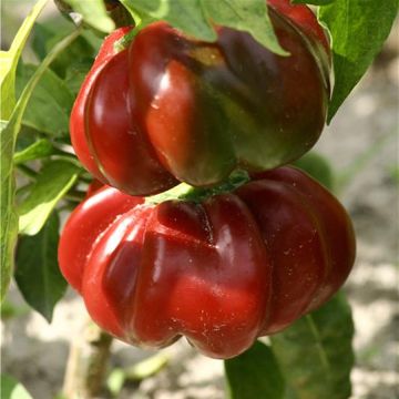
[[[289,57],[223,27],[206,43],[156,22],[117,53],[113,44],[129,28],[112,33],[71,115],[83,165],[105,184],[149,195],[306,153],[325,123],[328,41],[305,6],[269,0],[268,12]]]

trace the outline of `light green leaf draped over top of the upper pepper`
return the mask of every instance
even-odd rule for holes
[[[215,41],[213,23],[249,32],[260,44],[278,54],[279,45],[264,0],[122,0],[132,14],[164,20],[186,34]]]

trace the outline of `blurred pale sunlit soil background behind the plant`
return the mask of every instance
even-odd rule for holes
[[[7,50],[33,0],[1,1],[1,48]],[[60,16],[52,2],[39,21]],[[60,22],[61,23],[61,22]],[[33,61],[29,45],[24,61]],[[352,399],[399,398],[399,28],[328,126],[315,151],[334,171],[335,193],[352,217],[358,255],[344,289],[356,325]],[[1,310],[1,366],[33,398],[54,398],[62,389],[71,342],[88,315],[69,289],[49,325],[30,310],[12,286]],[[156,356],[160,370],[124,385],[117,398],[223,398],[223,362],[196,354],[184,340],[160,352],[112,344],[109,379],[117,368]],[[326,398],[327,399],[327,398]]]

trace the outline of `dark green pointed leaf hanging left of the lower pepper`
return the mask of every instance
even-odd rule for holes
[[[59,216],[54,212],[37,235],[20,237],[16,256],[18,288],[49,323],[68,286],[58,266],[59,228]]]

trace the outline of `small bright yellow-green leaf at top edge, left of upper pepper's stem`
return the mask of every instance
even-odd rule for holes
[[[99,31],[109,33],[115,29],[115,23],[106,14],[103,0],[64,0],[64,2],[70,4],[75,12],[79,12],[84,22]]]

